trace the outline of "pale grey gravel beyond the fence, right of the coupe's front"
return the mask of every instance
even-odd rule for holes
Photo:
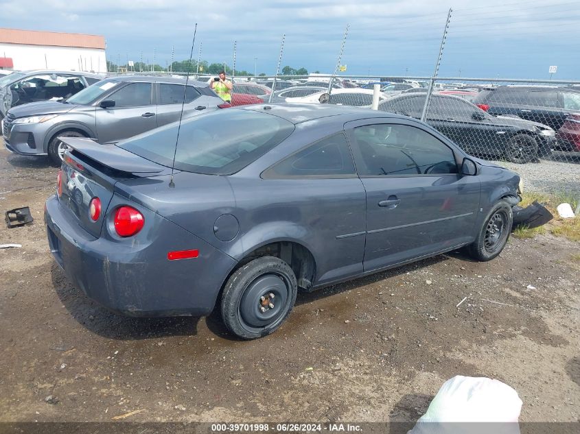
[[[518,173],[524,180],[524,191],[564,194],[580,200],[580,156],[555,153],[550,160],[541,160],[538,163],[496,163]]]

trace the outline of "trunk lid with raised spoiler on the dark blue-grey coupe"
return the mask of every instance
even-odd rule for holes
[[[100,145],[89,138],[62,137],[62,142],[69,149],[60,169],[58,200],[93,237],[101,234],[117,182],[170,171],[115,145]],[[89,208],[95,197],[101,201],[101,213],[93,221]]]

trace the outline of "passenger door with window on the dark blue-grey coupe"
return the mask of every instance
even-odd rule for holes
[[[452,147],[404,119],[345,129],[367,192],[364,272],[474,240],[480,182],[459,174]]]

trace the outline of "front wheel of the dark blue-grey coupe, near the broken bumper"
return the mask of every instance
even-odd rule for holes
[[[512,224],[511,205],[500,200],[485,217],[475,241],[467,246],[467,254],[478,261],[491,261],[505,247]]]

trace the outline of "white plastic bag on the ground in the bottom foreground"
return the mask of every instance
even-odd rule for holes
[[[441,386],[409,434],[518,434],[521,410],[518,392],[507,384],[458,375]]]

